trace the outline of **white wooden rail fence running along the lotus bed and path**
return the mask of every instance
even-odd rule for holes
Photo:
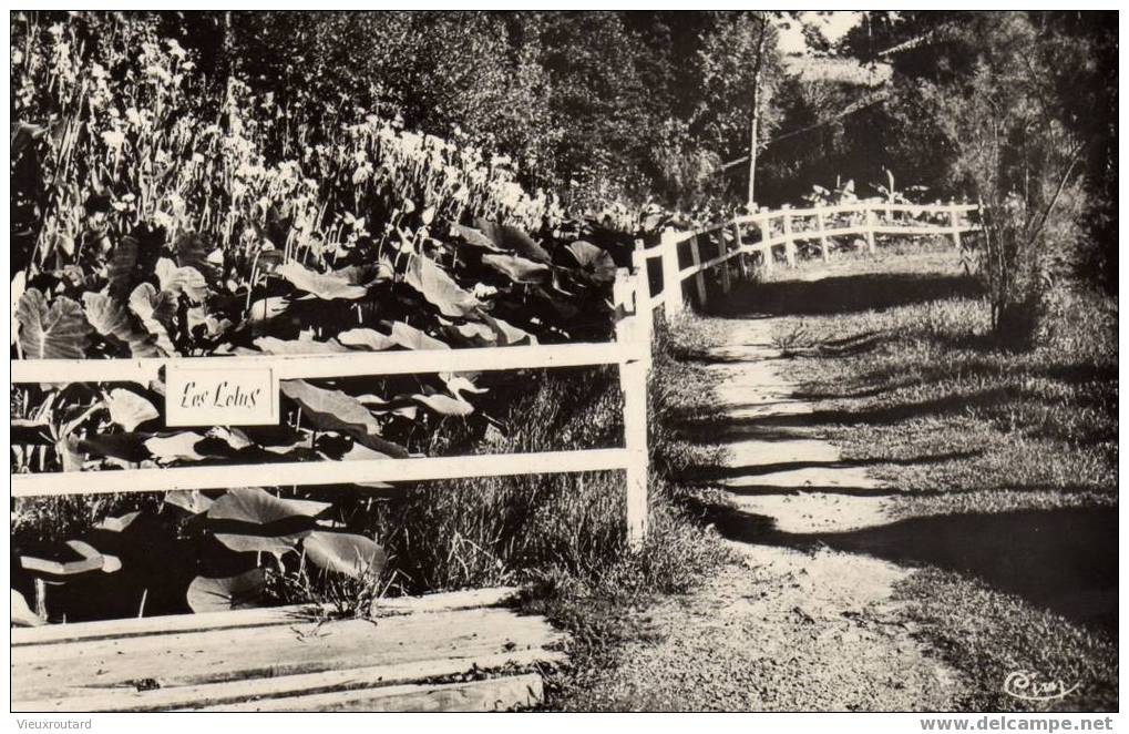
[[[975,207],[916,207],[860,202],[819,209],[784,209],[737,217],[697,231],[664,234],[662,242],[634,252],[634,269],[620,269],[613,302],[620,316],[615,341],[488,349],[358,352],[263,357],[192,357],[115,360],[15,360],[12,384],[69,382],[140,382],[158,377],[163,367],[270,367],[279,379],[383,376],[402,374],[485,372],[618,365],[623,392],[622,448],[528,454],[387,458],[341,462],[286,462],[220,466],[177,466],[100,472],[18,473],[11,475],[11,496],[152,492],[176,489],[220,489],[244,486],[315,486],[375,481],[428,481],[469,477],[622,470],[627,480],[628,541],[638,548],[647,532],[647,374],[650,366],[653,312],[673,315],[684,308],[683,282],[693,279],[699,304],[707,298],[706,271],[720,269],[723,290],[730,285],[729,261],[760,253],[762,266],[773,265],[773,250],[796,263],[797,242],[819,241],[830,256],[833,237],[857,235],[875,248],[875,235],[946,235],[960,243],[973,227],[962,221]],[[903,215],[899,224],[895,215]],[[814,226],[811,222],[814,220]],[[759,230],[759,237],[749,230]],[[702,243],[717,251],[702,261]],[[680,254],[688,244],[690,264]],[[653,295],[649,261],[662,263],[662,290]],[[749,259],[739,261],[747,271]]]

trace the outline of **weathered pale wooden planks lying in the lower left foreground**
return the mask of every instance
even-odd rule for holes
[[[514,589],[14,629],[16,711],[483,711],[537,704],[563,633]]]

